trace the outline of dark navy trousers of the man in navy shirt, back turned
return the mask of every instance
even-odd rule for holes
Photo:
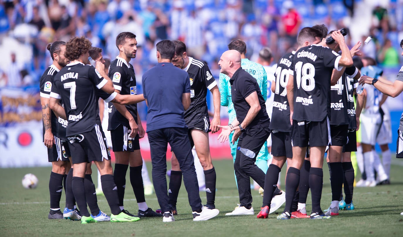
[[[152,181],[162,212],[172,210],[172,205],[168,202],[166,184],[166,149],[168,143],[178,159],[192,211],[200,210],[202,200],[199,196],[199,185],[187,128],[161,128],[149,131],[147,135],[151,151]]]

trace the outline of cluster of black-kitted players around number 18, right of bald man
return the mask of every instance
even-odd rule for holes
[[[322,219],[338,215],[343,180],[346,203],[353,209],[354,169],[350,153],[357,150],[356,121],[359,121],[364,95],[358,97],[355,107],[353,93],[360,73],[353,66],[352,56],[359,51],[361,43],[350,50],[340,31],[329,34],[327,31],[324,25],[301,29],[298,49],[278,61],[270,122],[273,161],[267,171],[258,218],[267,218],[270,212],[272,190],[287,159],[286,205],[278,219]],[[329,36],[334,43],[326,43]],[[340,50],[341,55],[337,53]],[[327,146],[332,202],[324,213],[320,198]],[[305,202],[309,188],[312,213],[307,215]]]

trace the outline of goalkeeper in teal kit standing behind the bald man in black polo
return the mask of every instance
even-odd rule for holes
[[[263,66],[256,63],[252,62],[249,59],[245,58],[245,53],[246,53],[246,44],[241,41],[240,39],[235,39],[231,41],[228,45],[228,49],[235,49],[241,54],[241,67],[243,70],[249,72],[257,81],[260,87],[260,91],[262,92],[262,96],[264,100],[266,101],[267,99],[267,74],[266,70],[264,70]],[[233,120],[235,120],[235,109],[234,109],[234,104],[232,103],[231,99],[231,84],[229,83],[229,77],[225,74],[220,73],[220,93],[221,93],[221,105],[227,107],[228,111],[228,118],[229,118],[229,123],[231,123]],[[231,143],[233,132],[229,136],[229,141],[230,141],[230,147],[231,147],[231,155],[234,159],[235,162],[235,155],[237,153],[237,145],[238,141],[235,142],[235,144]],[[264,173],[266,173],[268,166],[267,166],[267,160],[269,158],[269,153],[267,150],[267,141],[264,143],[262,148],[259,151],[259,154],[256,157],[256,165],[262,169]],[[237,181],[235,177],[235,181]]]

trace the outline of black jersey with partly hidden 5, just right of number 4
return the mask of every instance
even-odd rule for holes
[[[355,120],[355,105],[354,105],[354,89],[358,87],[358,80],[354,79],[357,75],[358,69],[355,66],[346,68],[347,82],[345,84],[347,90],[347,115],[349,118],[349,129],[357,128],[357,121]]]

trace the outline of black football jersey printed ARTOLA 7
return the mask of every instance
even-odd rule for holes
[[[96,89],[106,82],[92,66],[81,62],[67,64],[54,78],[51,97],[61,99],[69,125],[66,136],[91,131],[97,123],[98,97]]]

